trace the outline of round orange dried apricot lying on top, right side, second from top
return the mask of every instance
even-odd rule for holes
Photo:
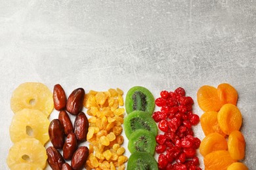
[[[225,104],[219,110],[218,123],[221,130],[229,135],[232,131],[239,130],[242,125],[242,114],[238,107],[232,104]]]

